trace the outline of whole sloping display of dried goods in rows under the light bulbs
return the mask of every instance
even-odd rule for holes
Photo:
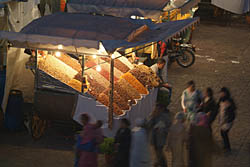
[[[114,113],[124,114],[130,110],[141,95],[148,94],[147,87],[157,87],[160,79],[151,68],[139,65],[134,67],[127,58],[119,57],[114,60]],[[96,66],[101,70],[97,71]],[[110,97],[110,59],[85,56],[84,78],[86,78],[88,92],[103,105],[109,107]],[[78,60],[66,55],[42,55],[38,58],[38,68],[73,89],[81,92],[82,66]]]

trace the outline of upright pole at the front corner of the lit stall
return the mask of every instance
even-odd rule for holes
[[[109,128],[112,129],[113,126],[113,111],[114,111],[114,59],[111,57],[112,54],[110,54],[110,81],[109,81]]]

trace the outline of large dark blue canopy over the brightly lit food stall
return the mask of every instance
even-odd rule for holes
[[[79,54],[113,52],[150,42],[168,40],[185,31],[199,18],[154,24],[111,16],[79,13],[56,13],[32,21],[21,32],[0,32],[0,39],[8,39],[13,46],[58,50]],[[103,48],[104,47],[104,48]]]

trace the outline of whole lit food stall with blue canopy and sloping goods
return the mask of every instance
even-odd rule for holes
[[[35,83],[35,137],[44,131],[45,120],[80,123],[82,113],[102,119],[106,136],[114,135],[121,118],[130,119],[132,126],[136,118],[146,118],[155,105],[158,77],[146,66],[134,67],[120,52],[168,40],[198,20],[154,24],[57,13],[34,20],[19,33],[0,32],[11,47],[22,48],[20,54],[30,54],[25,65],[35,76],[29,81]]]

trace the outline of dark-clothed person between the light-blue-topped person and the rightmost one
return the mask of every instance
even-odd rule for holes
[[[214,100],[214,93],[212,88],[208,87],[204,93],[202,111],[208,115],[208,125],[210,127],[210,130],[212,130],[212,123],[214,122],[218,114],[217,105]]]

